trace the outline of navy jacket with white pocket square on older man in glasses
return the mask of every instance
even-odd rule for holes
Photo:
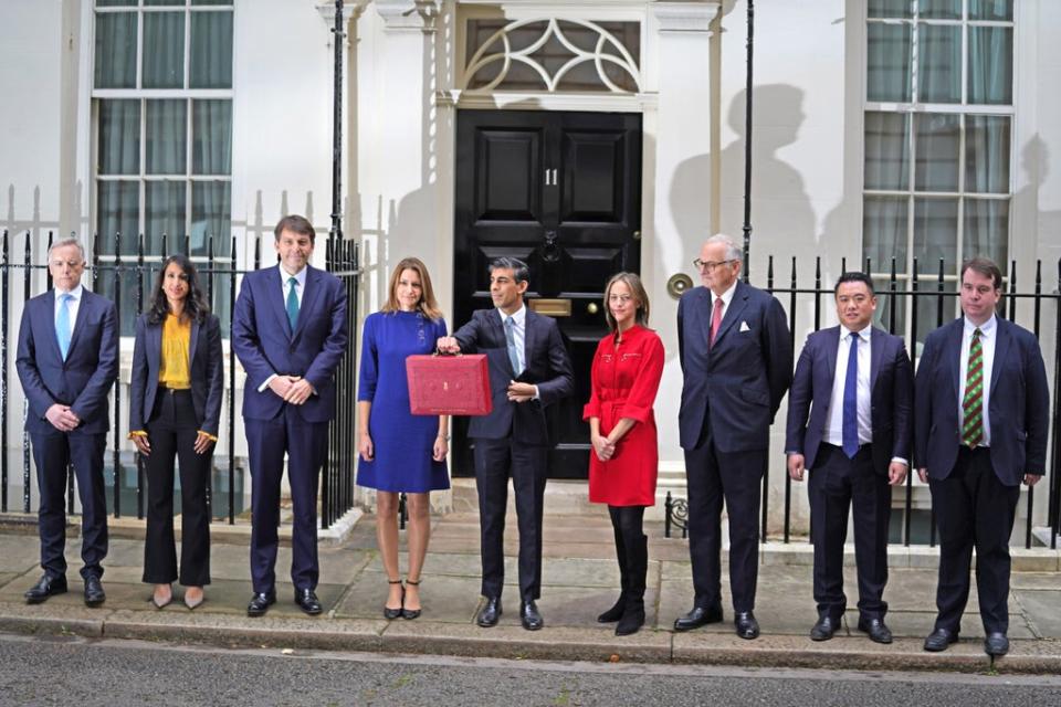
[[[713,299],[707,287],[694,287],[677,303],[682,449],[696,449],[704,425],[711,425],[719,452],[766,450],[774,415],[792,380],[785,309],[774,296],[738,281],[708,350]]]

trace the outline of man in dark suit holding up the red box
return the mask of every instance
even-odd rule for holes
[[[508,476],[516,492],[519,527],[519,619],[536,631],[544,624],[535,600],[542,593],[542,507],[549,451],[545,409],[570,395],[575,379],[559,327],[524,306],[529,272],[514,257],[490,265],[495,309],[480,309],[453,336],[438,341],[442,352],[485,354],[493,411],[472,418],[475,486],[486,603],[480,626],[496,625],[505,581],[504,531]]]

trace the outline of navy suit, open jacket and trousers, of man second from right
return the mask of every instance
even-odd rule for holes
[[[803,466],[810,471],[808,495],[819,614],[839,620],[847,606],[843,542],[848,510],[852,507],[859,611],[863,619],[883,620],[887,612],[882,595],[887,583],[892,497],[887,471],[893,458],[910,462],[914,372],[903,339],[874,327],[870,334],[869,377],[873,439],[869,449],[860,449],[854,458],[848,458],[836,445],[822,444],[837,377],[840,334],[836,326],[807,337],[788,391],[785,450],[802,454]]]

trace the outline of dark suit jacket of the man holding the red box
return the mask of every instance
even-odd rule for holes
[[[465,354],[485,354],[490,368],[490,393],[493,411],[473,416],[468,434],[484,440],[513,441],[544,446],[549,443],[545,409],[575,390],[571,361],[560,337],[560,329],[550,317],[527,308],[524,320],[525,367],[517,377],[508,360],[505,327],[497,309],[479,309],[472,319],[453,336]],[[516,403],[508,400],[508,381],[534,383],[538,399]]]

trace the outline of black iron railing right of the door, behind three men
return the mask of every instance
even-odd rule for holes
[[[958,315],[956,285],[954,277],[945,275],[945,265],[943,260],[938,263],[936,273],[932,276],[923,276],[920,273],[917,260],[914,260],[913,271],[910,276],[900,276],[896,270],[896,262],[892,258],[889,263],[886,275],[874,272],[873,263],[868,258],[863,272],[872,273],[876,287],[878,315],[880,320],[876,324],[887,331],[903,336],[907,341],[907,350],[914,366],[917,365],[920,356],[920,344],[924,334],[936,327],[943,326],[946,321],[954,319]],[[847,270],[847,263],[841,264],[841,272]],[[797,277],[797,263],[792,258],[791,275],[788,287],[781,287],[776,282],[775,266],[773,256],[769,258],[767,267],[766,289],[778,297],[788,310],[788,326],[792,333],[794,347],[798,349],[802,341],[797,341],[797,331],[803,331],[808,328],[807,321],[799,316],[800,313],[808,310],[808,299],[810,299],[810,317],[812,319],[811,329],[817,331],[822,325],[822,313],[833,307],[833,291],[831,286],[826,286],[821,278],[821,257],[815,262],[815,282],[813,286],[801,286]],[[1047,463],[1047,486],[1041,484],[1037,487],[1027,488],[1027,513],[1025,526],[1025,547],[1032,546],[1032,529],[1036,527],[1048,527],[1050,529],[1049,546],[1057,548],[1058,534],[1061,531],[1061,261],[1057,264],[1057,286],[1049,292],[1043,289],[1042,262],[1036,263],[1036,272],[1030,292],[1018,292],[1018,272],[1016,262],[1010,263],[1009,273],[1004,286],[1002,299],[999,303],[999,316],[1004,316],[1010,321],[1020,324],[1031,330],[1039,339],[1047,358],[1047,369],[1053,377],[1053,400],[1050,410],[1050,454]],[[1031,307],[1022,307],[1022,317],[1018,316],[1018,303],[1030,302]],[[927,307],[918,305],[926,304]],[[905,313],[905,314],[903,314]],[[923,315],[928,315],[928,320],[918,320]],[[1050,333],[1049,340],[1043,340],[1043,331],[1048,328],[1048,323],[1052,323],[1053,330]],[[1046,358],[1046,357],[1044,357]],[[1052,369],[1052,371],[1050,370]],[[917,460],[913,460],[913,467],[917,467]],[[768,537],[769,518],[769,469],[775,464],[768,463],[766,473],[763,477],[763,507],[761,507],[761,537]],[[785,469],[785,461],[781,460],[779,468]],[[913,519],[913,474],[906,475],[906,485],[904,488],[902,532],[901,541],[904,546],[910,546],[912,537]],[[792,518],[792,481],[787,471],[785,477],[785,514],[782,526],[782,539],[785,542],[791,540],[791,518]],[[1047,513],[1036,516],[1034,497],[1036,488],[1040,493],[1049,494]],[[664,530],[668,537],[671,535],[671,528],[677,527],[682,530],[684,537],[686,529],[687,513],[683,499],[675,499],[668,494],[664,506],[666,515]],[[936,544],[936,523],[935,515],[932,514],[928,520],[928,545]]]

